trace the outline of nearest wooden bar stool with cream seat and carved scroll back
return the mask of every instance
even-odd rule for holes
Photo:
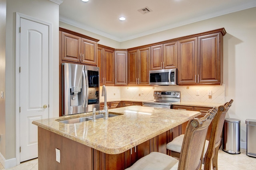
[[[207,129],[217,111],[218,108],[214,107],[204,117],[194,118],[188,122],[180,160],[160,152],[151,152],[126,170],[200,170]]]

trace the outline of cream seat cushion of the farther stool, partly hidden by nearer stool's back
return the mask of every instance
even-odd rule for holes
[[[180,153],[181,152],[181,146],[182,146],[183,139],[184,139],[184,134],[174,138],[171,142],[169,142],[166,145],[166,148],[168,150],[172,150],[172,151]],[[205,153],[207,151],[208,145],[209,145],[209,141],[206,140],[205,141],[205,145],[204,145],[204,155],[205,155]]]

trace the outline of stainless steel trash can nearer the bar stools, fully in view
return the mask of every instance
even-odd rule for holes
[[[225,119],[222,131],[222,150],[230,154],[240,154],[239,119]]]

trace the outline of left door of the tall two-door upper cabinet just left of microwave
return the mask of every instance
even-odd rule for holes
[[[128,84],[136,84],[138,65],[138,50],[128,51]]]

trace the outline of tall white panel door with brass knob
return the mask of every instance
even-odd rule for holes
[[[23,162],[38,157],[38,129],[32,121],[49,117],[49,28],[23,18],[20,28],[20,162]]]

